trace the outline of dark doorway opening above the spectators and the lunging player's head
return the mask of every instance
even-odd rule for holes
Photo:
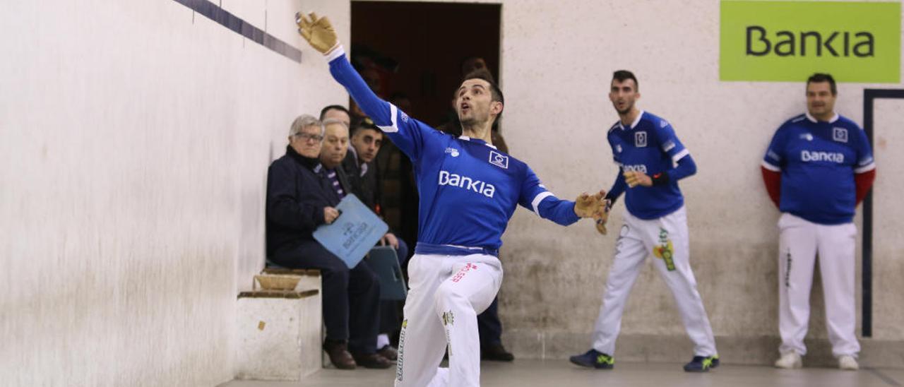
[[[484,58],[498,80],[501,9],[502,5],[353,1],[352,54],[372,61],[372,73],[380,76],[381,97],[406,94],[412,102],[409,115],[436,127],[446,119],[464,59]]]

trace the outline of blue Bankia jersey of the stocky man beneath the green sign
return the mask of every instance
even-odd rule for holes
[[[820,224],[853,222],[853,175],[876,167],[866,133],[837,114],[828,122],[809,114],[787,120],[762,165],[782,174],[779,210]]]

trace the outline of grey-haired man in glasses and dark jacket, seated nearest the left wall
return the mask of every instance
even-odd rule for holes
[[[339,123],[331,128],[339,133]],[[326,133],[327,135],[329,133]],[[289,129],[286,155],[274,161],[267,176],[267,256],[294,269],[319,269],[323,278],[324,350],[339,369],[389,368],[376,354],[380,283],[362,261],[348,269],[343,260],[315,241],[312,232],[334,222],[339,203],[321,165],[324,126],[304,115]],[[344,155],[343,155],[344,156]]]

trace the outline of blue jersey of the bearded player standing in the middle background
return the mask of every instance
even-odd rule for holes
[[[690,156],[675,137],[672,125],[645,111],[640,112],[630,127],[617,122],[609,128],[607,139],[609,146],[612,146],[612,157],[622,173],[668,174],[679,160]],[[678,178],[669,179],[663,185],[637,185],[625,193],[627,211],[640,219],[661,218],[683,205],[684,197],[678,189]]]

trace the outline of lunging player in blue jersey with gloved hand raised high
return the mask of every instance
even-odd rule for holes
[[[600,216],[602,193],[581,194],[577,203],[560,200],[528,165],[493,146],[490,128],[504,107],[494,82],[462,82],[456,109],[463,136],[453,137],[374,95],[345,58],[328,20],[310,14],[297,22],[307,42],[327,56],[335,80],[415,167],[419,238],[409,264],[395,385],[477,386],[476,315],[502,283],[497,251],[515,207],[568,225]],[[449,369],[438,369],[447,347]]]

